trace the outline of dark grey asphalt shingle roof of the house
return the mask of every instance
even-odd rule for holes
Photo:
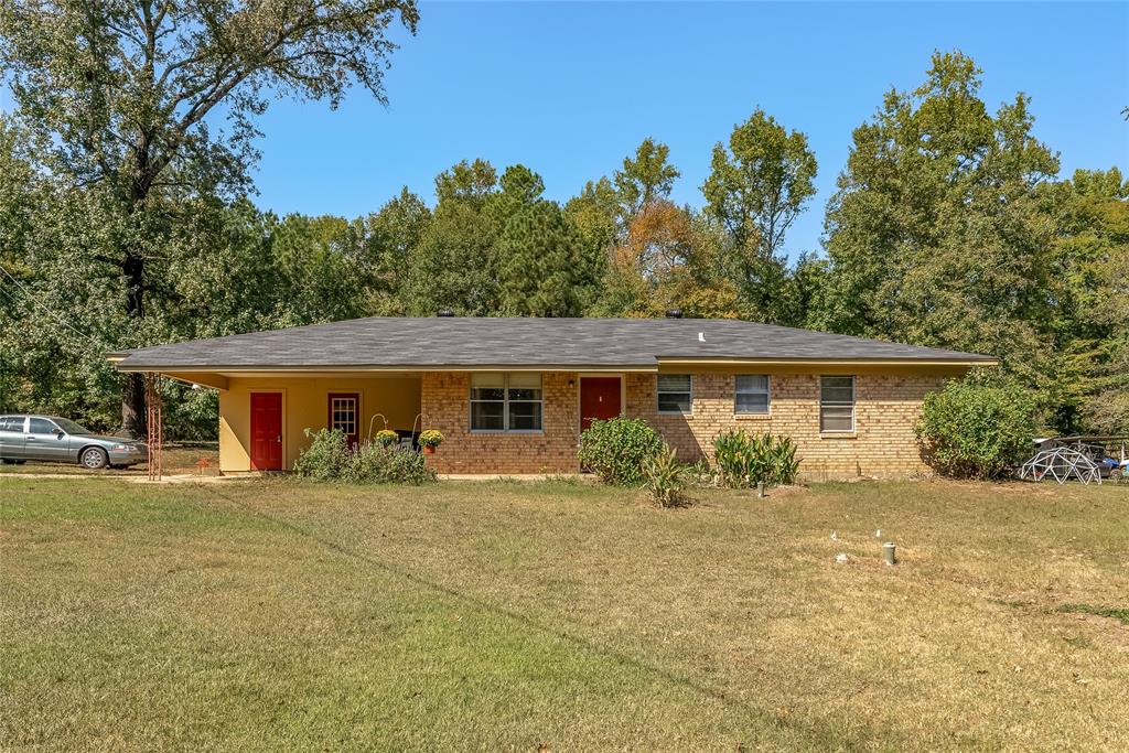
[[[660,359],[986,361],[734,319],[374,317],[125,351],[123,370],[310,367],[654,368]]]

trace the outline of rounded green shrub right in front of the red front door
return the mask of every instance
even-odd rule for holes
[[[644,463],[663,448],[663,441],[646,421],[615,418],[593,419],[580,435],[580,464],[604,483],[638,487],[644,481]]]

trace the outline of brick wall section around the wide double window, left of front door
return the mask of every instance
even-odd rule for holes
[[[569,383],[571,382],[571,386]],[[536,434],[471,432],[471,376],[423,374],[423,426],[444,443],[428,463],[439,473],[575,473],[579,440],[579,378],[566,371],[542,375],[543,430]]]

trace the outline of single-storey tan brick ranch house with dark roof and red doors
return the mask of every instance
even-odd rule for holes
[[[785,434],[813,476],[921,470],[926,393],[988,356],[729,319],[364,318],[112,353],[219,391],[220,471],[285,470],[306,428],[439,429],[440,473],[575,472],[593,418],[650,423],[684,461]]]

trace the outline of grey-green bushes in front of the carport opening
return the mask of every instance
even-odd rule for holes
[[[435,481],[435,471],[427,466],[421,454],[411,449],[376,441],[365,443],[353,450],[339,429],[316,432],[306,429],[306,436],[313,437],[313,441],[298,454],[294,464],[298,475],[349,483],[420,484]]]

